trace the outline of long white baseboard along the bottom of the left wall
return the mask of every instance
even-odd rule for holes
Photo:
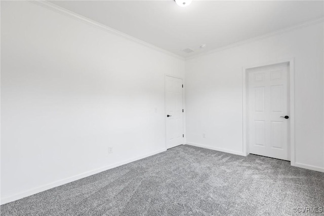
[[[98,168],[98,169],[83,172],[83,173],[80,173],[80,174],[77,174],[77,175],[74,175],[74,176],[71,176],[71,177],[68,177],[68,178],[64,178],[64,179],[61,179],[59,181],[49,183],[49,184],[46,184],[46,185],[43,185],[43,186],[40,186],[40,187],[37,187],[37,188],[33,188],[31,190],[28,190],[28,191],[25,191],[25,192],[22,192],[22,193],[19,193],[19,194],[15,194],[15,195],[10,196],[10,197],[5,197],[5,198],[1,199],[1,204],[5,204],[5,203],[8,203],[8,202],[18,200],[18,199],[22,199],[24,197],[28,197],[28,196],[31,196],[33,194],[37,194],[39,192],[43,192],[43,191],[46,191],[46,190],[49,190],[49,189],[52,189],[52,188],[55,188],[55,187],[58,187],[58,186],[73,182],[73,181],[76,181],[78,179],[88,177],[90,175],[97,174],[99,172],[102,172],[102,171],[105,171],[105,170],[108,170],[108,169],[111,169],[111,168],[115,168],[117,166],[121,166],[121,165],[124,165],[124,164],[128,164],[128,163],[131,163],[133,161],[137,161],[137,160],[140,160],[140,159],[143,159],[143,158],[147,158],[149,156],[156,155],[158,153],[165,152],[165,151],[167,151],[166,148],[160,149],[158,151],[151,152],[151,153],[148,153],[148,154],[145,154],[145,155],[141,155],[139,157],[131,158],[131,159],[128,159],[128,160],[125,160],[125,161],[121,161],[121,162],[114,163],[114,164],[111,164],[111,165],[108,165],[108,166],[104,166],[104,167],[101,167],[101,168]]]

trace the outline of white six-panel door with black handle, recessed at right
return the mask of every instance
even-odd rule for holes
[[[289,64],[248,70],[248,76],[249,151],[290,160]]]

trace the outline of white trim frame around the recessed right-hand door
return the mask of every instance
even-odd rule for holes
[[[243,101],[243,155],[247,156],[250,154],[249,145],[248,143],[248,109],[247,109],[247,87],[248,87],[248,70],[257,68],[257,67],[264,67],[264,66],[271,66],[276,64],[288,63],[289,64],[289,104],[290,104],[290,124],[289,129],[289,141],[290,141],[290,160],[291,165],[295,166],[295,79],[294,79],[294,58],[291,59],[282,59],[273,62],[267,62],[259,65],[242,67],[242,101]]]

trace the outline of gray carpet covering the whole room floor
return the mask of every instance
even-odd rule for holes
[[[1,215],[324,215],[324,173],[179,146],[1,206]]]

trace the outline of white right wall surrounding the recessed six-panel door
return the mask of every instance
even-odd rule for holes
[[[187,143],[242,154],[242,67],[294,58],[296,166],[324,171],[323,38],[317,22],[187,60]]]

